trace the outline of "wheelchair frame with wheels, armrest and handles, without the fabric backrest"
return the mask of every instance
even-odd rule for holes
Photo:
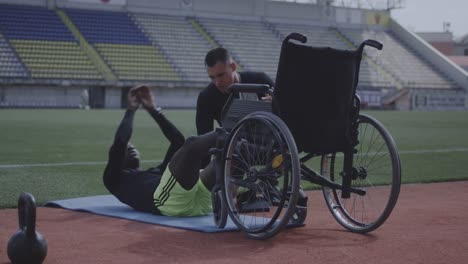
[[[283,45],[290,40],[305,43],[306,37],[292,33]],[[359,56],[366,45],[382,49],[379,42],[366,40],[357,50]],[[367,233],[387,220],[399,195],[400,159],[385,127],[360,114],[358,74],[359,70],[346,148],[302,157],[288,126],[269,111],[270,104],[236,99],[241,92],[271,94],[268,86],[230,87],[223,127],[218,129],[217,145],[211,150],[216,163],[212,201],[218,227],[226,225],[229,215],[248,237],[268,239],[287,225],[302,225],[307,216],[307,196],[300,187],[301,180],[322,188],[330,212],[351,232]],[[314,157],[321,157],[320,173],[307,164]]]

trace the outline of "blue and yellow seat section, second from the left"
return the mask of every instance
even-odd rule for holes
[[[66,13],[120,80],[181,81],[127,13],[77,9]]]

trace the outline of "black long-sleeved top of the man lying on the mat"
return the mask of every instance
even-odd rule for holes
[[[117,129],[109,150],[109,160],[104,171],[106,188],[121,202],[145,212],[155,212],[153,193],[174,153],[184,144],[184,136],[160,112],[152,109],[150,115],[161,128],[170,146],[164,160],[146,171],[124,168],[127,144],[132,136],[135,111],[127,110]]]

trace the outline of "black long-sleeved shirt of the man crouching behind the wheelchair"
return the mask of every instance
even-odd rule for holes
[[[263,72],[239,72],[241,83],[267,84],[274,86],[273,80]],[[213,131],[214,121],[221,124],[221,111],[229,98],[229,94],[220,92],[210,83],[198,95],[196,125],[197,134],[202,135]]]

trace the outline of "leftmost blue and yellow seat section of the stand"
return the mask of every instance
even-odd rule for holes
[[[102,78],[52,10],[1,5],[0,27],[32,78]]]

